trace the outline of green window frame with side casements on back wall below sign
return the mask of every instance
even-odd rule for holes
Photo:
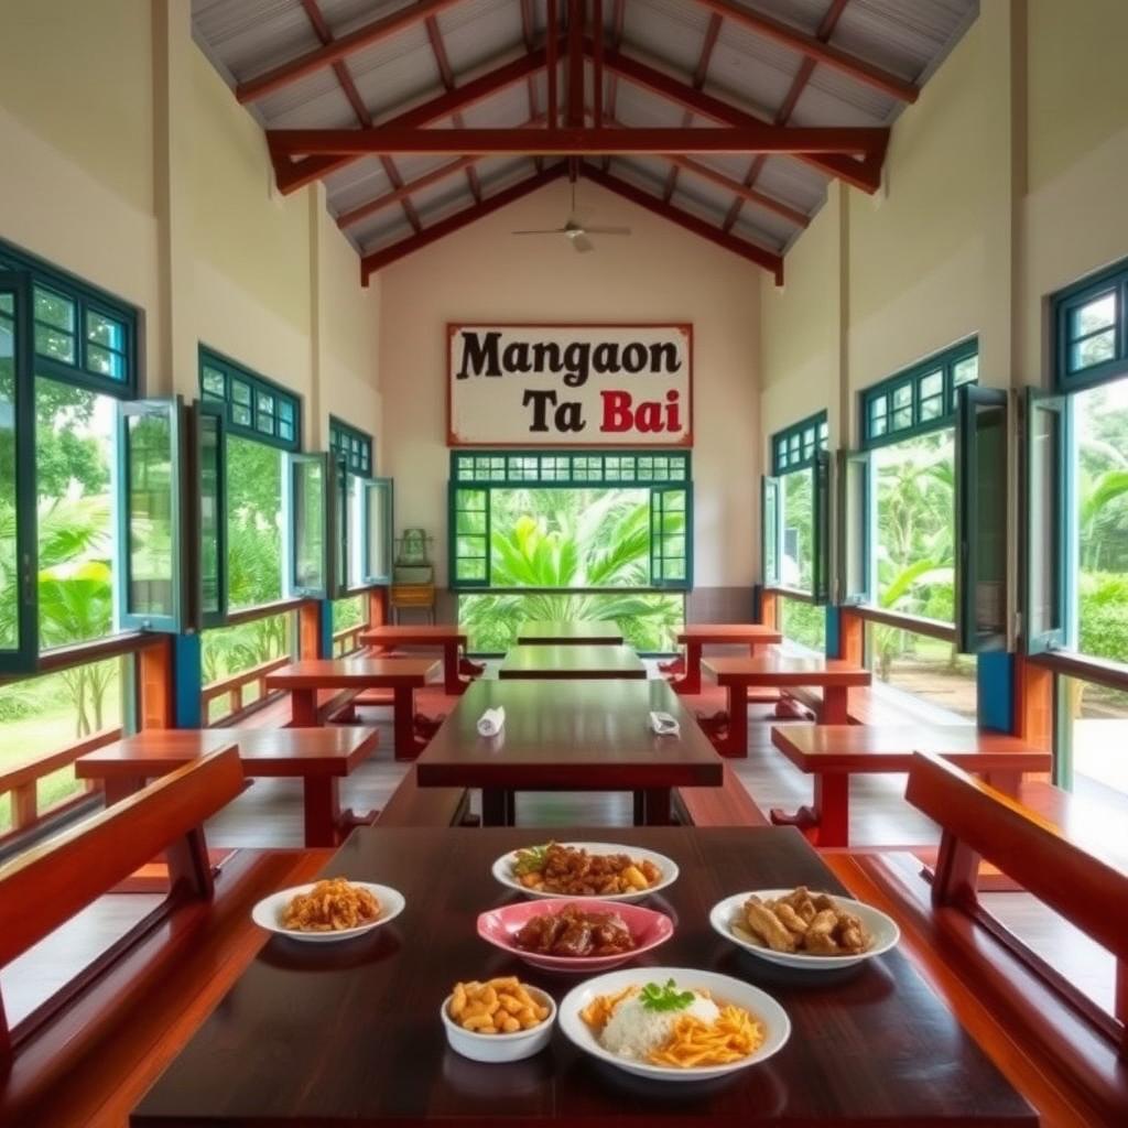
[[[452,450],[447,525],[451,591],[491,587],[490,491],[512,485],[649,487],[650,588],[693,588],[693,462],[688,451]]]

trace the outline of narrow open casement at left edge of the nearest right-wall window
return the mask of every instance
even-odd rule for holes
[[[1023,584],[1022,634],[1028,654],[1065,646],[1066,451],[1069,413],[1065,396],[1026,390],[1026,576]]]

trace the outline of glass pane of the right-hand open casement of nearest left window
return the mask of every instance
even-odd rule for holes
[[[173,615],[173,428],[167,412],[130,415],[129,607],[135,615]]]

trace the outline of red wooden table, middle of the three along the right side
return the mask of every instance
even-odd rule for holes
[[[716,678],[729,697],[729,733],[719,749],[725,756],[748,755],[748,690],[756,686],[783,689],[817,686],[822,689],[822,720],[846,724],[849,689],[873,680],[869,670],[853,662],[820,655],[757,654],[755,658],[707,658],[703,668]]]

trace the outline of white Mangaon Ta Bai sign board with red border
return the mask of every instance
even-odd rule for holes
[[[690,325],[448,325],[451,447],[688,447]]]

